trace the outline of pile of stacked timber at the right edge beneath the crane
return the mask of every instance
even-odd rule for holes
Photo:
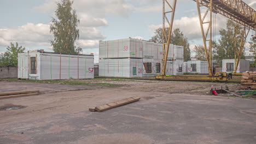
[[[243,72],[241,80],[242,89],[256,89],[256,71]]]

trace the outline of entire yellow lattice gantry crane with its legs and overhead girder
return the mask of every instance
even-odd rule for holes
[[[228,19],[239,23],[240,27],[235,28],[234,41],[238,42],[238,49],[235,47],[235,70],[236,73],[238,63],[241,58],[243,47],[249,30],[256,31],[256,11],[249,7],[241,0],[192,0],[196,2],[197,12],[201,26],[203,46],[208,63],[209,75],[212,73],[212,38],[213,38],[213,13],[221,14]],[[162,76],[165,76],[166,62],[168,57],[168,47],[170,46],[171,32],[173,27],[174,14],[176,10],[177,0],[162,0],[162,41],[163,55],[162,59]],[[206,7],[204,12],[201,7]],[[203,16],[201,13],[203,13]],[[168,16],[171,18],[168,19]],[[168,25],[168,26],[166,26]],[[240,38],[237,36],[240,35]],[[164,43],[166,41],[166,43]]]

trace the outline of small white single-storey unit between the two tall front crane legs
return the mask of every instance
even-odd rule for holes
[[[188,61],[188,74],[208,74],[208,64],[206,61]]]

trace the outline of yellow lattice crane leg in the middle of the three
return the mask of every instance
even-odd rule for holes
[[[203,39],[203,46],[205,47],[205,55],[207,58],[207,64],[208,64],[208,71],[209,75],[212,76],[212,10],[213,10],[213,4],[212,0],[210,0],[210,3],[205,3],[202,0],[196,0],[197,5],[197,11],[199,15],[199,21],[201,26],[201,32],[202,32],[202,39]],[[201,16],[201,9],[200,7],[207,7],[207,10],[203,17]],[[206,17],[209,19],[206,19]],[[204,26],[207,26],[206,32],[204,29]],[[210,32],[210,34],[209,34]]]

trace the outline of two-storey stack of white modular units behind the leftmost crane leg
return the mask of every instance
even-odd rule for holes
[[[132,38],[107,40],[100,41],[99,51],[100,76],[150,77],[161,74],[162,44]],[[182,74],[183,59],[183,46],[170,44],[166,75]]]

